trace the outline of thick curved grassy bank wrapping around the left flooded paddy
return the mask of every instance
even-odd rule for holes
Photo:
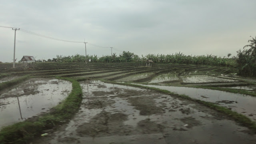
[[[51,129],[60,121],[72,118],[80,108],[82,102],[82,88],[80,84],[71,78],[61,78],[72,82],[72,91],[61,103],[52,108],[49,113],[42,115],[35,121],[26,120],[6,126],[0,131],[0,144],[24,144],[34,136],[42,134],[43,130]]]

